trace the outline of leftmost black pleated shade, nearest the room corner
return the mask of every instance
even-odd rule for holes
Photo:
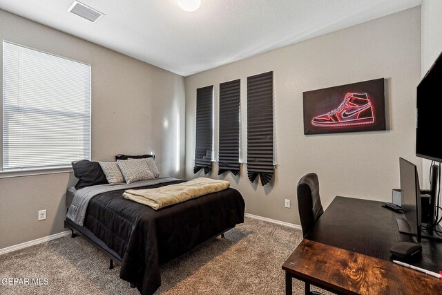
[[[212,171],[213,85],[196,90],[195,167],[193,173]]]

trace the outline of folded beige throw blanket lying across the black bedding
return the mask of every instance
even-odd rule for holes
[[[230,186],[230,182],[225,180],[213,180],[211,178],[195,178],[188,182],[166,185],[157,189],[126,189],[123,196],[126,199],[145,204],[157,210],[198,198],[207,193],[216,193]]]

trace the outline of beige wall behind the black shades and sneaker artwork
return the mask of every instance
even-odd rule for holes
[[[194,177],[195,89],[213,84],[218,102],[220,82],[241,78],[244,108],[247,76],[269,70],[274,73],[274,183],[256,187],[245,166],[240,178],[225,176],[244,196],[247,213],[299,224],[296,184],[312,171],[320,178],[325,207],[336,195],[391,200],[392,189],[399,186],[398,158],[421,166],[414,155],[415,88],[421,77],[418,7],[186,77],[188,178]],[[387,131],[303,134],[302,91],[381,77],[387,79]],[[242,131],[245,137],[245,126]],[[216,170],[211,177],[218,178]],[[285,199],[291,200],[290,209],[284,208]]]

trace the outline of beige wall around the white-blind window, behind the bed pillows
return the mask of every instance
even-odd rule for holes
[[[4,10],[0,39],[91,64],[93,160],[153,151],[162,175],[182,175],[183,77]],[[0,249],[64,231],[72,184],[73,173],[0,178]],[[41,209],[48,218],[37,221]]]

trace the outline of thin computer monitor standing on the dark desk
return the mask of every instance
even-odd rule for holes
[[[411,234],[421,242],[421,190],[416,165],[399,158],[401,178],[401,207],[407,218]]]

